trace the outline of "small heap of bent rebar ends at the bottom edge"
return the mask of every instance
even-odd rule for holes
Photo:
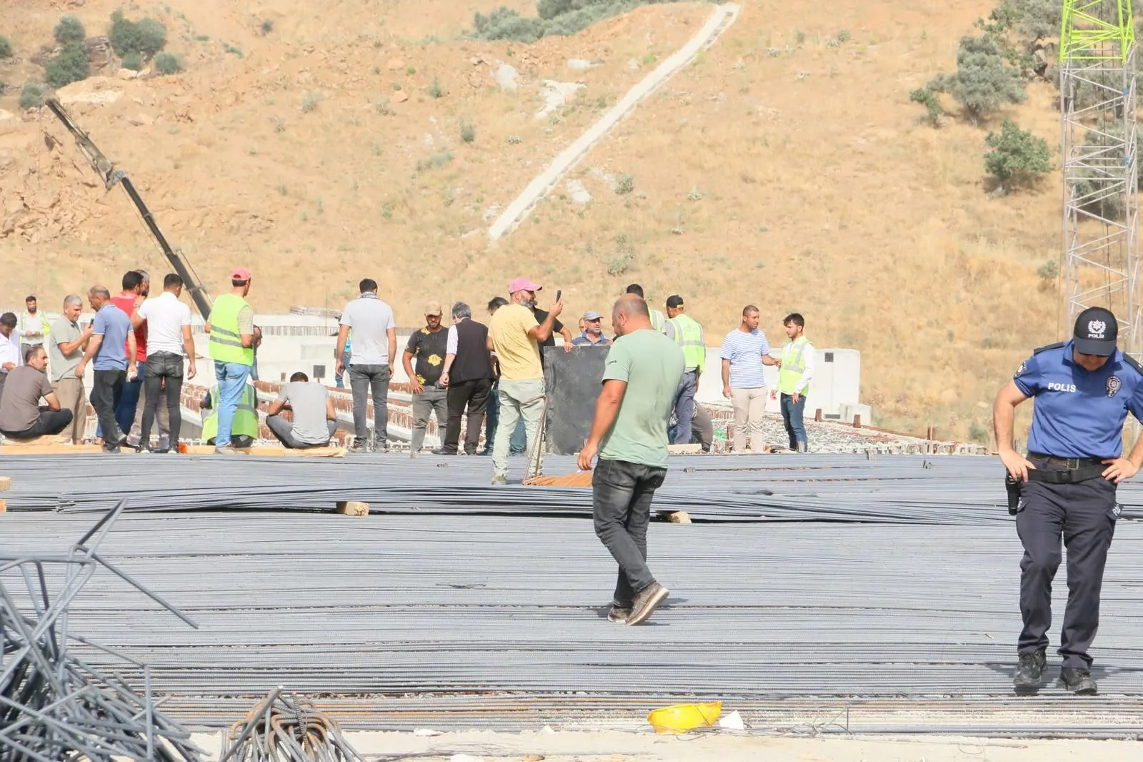
[[[235,722],[230,737],[234,745],[218,762],[365,762],[336,722],[279,689]]]

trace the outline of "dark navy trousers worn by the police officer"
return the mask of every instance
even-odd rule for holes
[[[1053,468],[1032,458],[1037,468]],[[1060,630],[1063,666],[1087,669],[1088,649],[1100,627],[1100,593],[1108,549],[1116,533],[1119,506],[1116,485],[1096,477],[1076,484],[1025,482],[1016,513],[1016,532],[1024,545],[1020,562],[1020,613],[1024,629],[1018,653],[1048,644],[1052,626],[1052,580],[1068,548],[1068,606]]]

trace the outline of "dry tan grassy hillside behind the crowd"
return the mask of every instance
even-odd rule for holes
[[[0,63],[0,81],[38,71],[26,58],[59,13],[99,34],[117,5],[7,3],[0,33],[17,61]],[[368,275],[413,324],[426,299],[482,304],[523,272],[561,287],[575,315],[638,280],[657,301],[684,294],[712,336],[748,302],[774,338],[797,309],[820,346],[862,350],[863,396],[880,424],[961,436],[988,420],[1026,351],[1060,334],[1054,284],[1036,273],[1058,252],[1058,175],[990,199],[981,157],[999,118],[933,129],[909,103],[954,66],[959,37],[990,0],[839,2],[818,17],[746,0],[714,47],[573,170],[590,203],[561,184],[489,247],[495,211],[710,13],[646,7],[530,46],[458,39],[474,10],[499,5],[134,3],[129,16],[167,24],[186,71],[111,72],[66,92],[118,101],[70,108],[208,285],[249,264],[253,301],[267,311],[339,305]],[[848,41],[833,45],[841,30]],[[569,58],[600,65],[574,70]],[[496,86],[498,62],[519,70],[515,92]],[[585,87],[537,119],[546,79]],[[1010,113],[1055,146],[1052,96],[1031,85]],[[11,88],[0,108],[17,111]],[[0,231],[0,302],[32,289],[54,303],[128,267],[165,270],[126,197],[95,186],[71,142],[49,145],[45,132],[64,137],[47,113],[0,120],[0,213],[18,222]],[[615,192],[622,176],[632,192]]]

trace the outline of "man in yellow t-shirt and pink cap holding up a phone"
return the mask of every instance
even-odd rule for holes
[[[525,478],[543,473],[539,420],[544,413],[544,368],[539,364],[539,346],[552,334],[563,302],[557,301],[544,322],[537,323],[531,308],[541,288],[528,278],[513,278],[509,284],[511,302],[496,310],[488,324],[488,349],[496,352],[501,368],[493,484],[507,484],[509,439],[520,418],[528,437],[528,469],[535,468]]]

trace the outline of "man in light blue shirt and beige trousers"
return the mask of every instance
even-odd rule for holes
[[[742,308],[742,325],[726,334],[722,340],[722,396],[734,405],[734,451],[750,449],[762,452],[762,414],[766,412],[766,380],[764,365],[781,365],[770,357],[770,344],[766,334],[758,330],[758,308],[746,304]]]

